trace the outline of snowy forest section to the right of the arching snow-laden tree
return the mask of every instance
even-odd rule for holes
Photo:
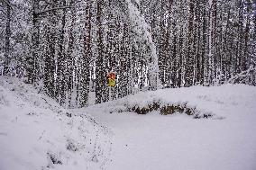
[[[157,46],[161,85],[220,85],[231,78],[255,85],[255,0],[140,2]]]

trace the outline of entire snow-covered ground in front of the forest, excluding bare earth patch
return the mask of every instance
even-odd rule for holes
[[[254,170],[255,99],[254,86],[194,86],[65,110],[0,77],[0,170]],[[186,105],[201,119],[131,112],[152,103]]]

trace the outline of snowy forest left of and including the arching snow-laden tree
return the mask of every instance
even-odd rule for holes
[[[26,20],[13,20],[17,13]],[[151,34],[145,22],[140,25],[142,15],[130,1],[1,0],[1,14],[6,27],[6,31],[1,28],[5,34],[1,41],[5,42],[5,50],[1,49],[5,55],[3,75],[12,76],[21,67],[27,83],[61,105],[87,106],[90,90],[96,93],[96,103],[102,103],[133,94],[136,86],[157,88],[157,56]],[[25,40],[10,44],[14,34],[22,34]],[[8,49],[16,44],[24,44],[23,49]],[[13,59],[10,51],[21,56]],[[16,60],[19,63],[12,66]],[[111,71],[118,82],[113,88],[106,85]],[[90,89],[92,86],[95,89]]]

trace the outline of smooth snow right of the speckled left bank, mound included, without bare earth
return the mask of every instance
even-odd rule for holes
[[[254,170],[255,100],[254,86],[194,86],[135,94],[73,112],[89,112],[114,131],[109,170]],[[144,107],[155,101],[187,103],[215,117],[122,112],[125,107]]]

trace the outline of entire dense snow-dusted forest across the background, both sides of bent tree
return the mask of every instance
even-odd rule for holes
[[[94,93],[103,103],[143,89],[255,85],[255,0],[0,0],[0,23],[1,75],[67,107]]]

